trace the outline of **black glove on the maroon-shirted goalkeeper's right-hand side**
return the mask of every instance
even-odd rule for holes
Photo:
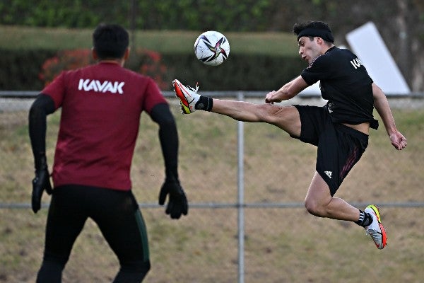
[[[172,219],[179,219],[181,214],[187,215],[189,212],[189,204],[184,190],[178,181],[165,180],[159,193],[159,204],[165,204],[166,196],[169,195],[168,204],[165,210],[166,214],[170,214]]]

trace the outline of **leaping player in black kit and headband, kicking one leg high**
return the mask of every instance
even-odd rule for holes
[[[329,25],[319,21],[295,24],[293,33],[298,36],[300,57],[309,66],[278,91],[267,93],[266,103],[258,105],[200,96],[197,88],[185,87],[175,80],[173,84],[182,112],[206,110],[239,121],[266,122],[295,139],[317,146],[316,171],[305,197],[307,211],[314,216],[353,221],[363,226],[375,246],[382,249],[387,244],[387,236],[378,207],[370,204],[361,210],[334,194],[363,155],[370,128],[378,127],[373,108],[382,118],[395,149],[404,149],[406,138],[396,129],[382,89],[372,81],[355,54],[334,45]],[[273,104],[293,98],[317,81],[320,81],[322,98],[328,100],[323,107]]]

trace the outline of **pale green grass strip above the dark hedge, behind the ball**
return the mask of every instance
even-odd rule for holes
[[[0,25],[0,48],[66,50],[91,48],[93,30],[64,28],[26,28]],[[131,34],[131,46],[143,47],[164,54],[192,52],[194,41],[202,32],[141,31]],[[224,32],[225,33],[225,32]],[[225,33],[231,52],[238,54],[278,54],[294,56],[298,52],[295,36],[290,33]],[[135,45],[133,45],[135,43]]]

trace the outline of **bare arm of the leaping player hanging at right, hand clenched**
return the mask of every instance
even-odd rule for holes
[[[372,83],[372,96],[374,97],[374,107],[379,116],[382,118],[386,132],[389,135],[391,144],[396,149],[404,149],[406,147],[406,138],[396,128],[394,117],[391,114],[389,101],[387,101],[384,92],[377,84]]]

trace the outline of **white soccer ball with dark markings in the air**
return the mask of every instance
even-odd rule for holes
[[[200,62],[209,66],[222,64],[230,54],[230,42],[222,33],[208,30],[194,42],[194,54]]]

